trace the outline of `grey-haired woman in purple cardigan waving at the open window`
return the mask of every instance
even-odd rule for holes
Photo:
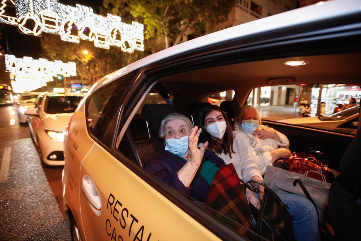
[[[225,163],[206,150],[208,142],[197,148],[201,131],[184,115],[166,116],[159,128],[165,150],[154,155],[145,169],[169,186],[204,202],[219,166]]]

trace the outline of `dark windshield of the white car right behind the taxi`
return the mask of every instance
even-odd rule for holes
[[[45,103],[45,112],[49,114],[74,112],[82,98],[83,96],[50,96]]]

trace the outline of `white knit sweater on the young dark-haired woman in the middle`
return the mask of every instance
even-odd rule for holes
[[[251,180],[253,176],[258,176],[261,178],[261,180],[263,180],[256,161],[248,152],[247,146],[245,145],[242,138],[236,134],[237,132],[237,130],[233,131],[235,136],[233,140],[233,150],[236,153],[232,153],[232,158],[229,157],[229,154],[225,154],[224,152],[218,156],[222,158],[226,164],[233,163],[239,178],[244,182]]]

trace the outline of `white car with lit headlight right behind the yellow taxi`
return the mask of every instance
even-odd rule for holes
[[[40,96],[33,109],[25,111],[43,165],[64,165],[63,131],[83,96],[47,93]]]

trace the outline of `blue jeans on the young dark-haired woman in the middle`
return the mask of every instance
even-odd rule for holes
[[[258,197],[258,193],[255,193]],[[297,241],[318,241],[318,218],[312,202],[307,198],[292,193],[277,193],[282,202],[290,209],[288,211],[293,217],[293,231]]]

